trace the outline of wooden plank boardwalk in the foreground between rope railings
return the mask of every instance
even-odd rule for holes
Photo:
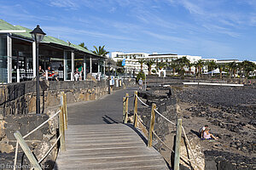
[[[56,169],[165,170],[166,161],[125,124],[69,125]]]

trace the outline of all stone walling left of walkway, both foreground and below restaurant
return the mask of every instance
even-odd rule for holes
[[[132,86],[135,80],[123,80],[121,87],[113,86],[111,91]],[[67,94],[67,104],[95,100],[108,94],[108,81],[80,81],[80,82],[40,82],[40,104],[43,114],[36,115],[36,82],[20,82],[0,86],[0,169],[9,169],[15,159],[15,131],[24,136],[38,127],[49,116],[58,111],[61,92]],[[26,138],[38,160],[44,156],[50,146],[54,144],[58,133],[58,116]],[[46,157],[42,165],[54,165],[57,146]],[[24,152],[19,149],[18,166],[29,166]],[[17,168],[20,169],[20,168]],[[24,169],[24,168],[23,168]],[[25,168],[26,169],[26,168]],[[47,169],[47,168],[46,168]]]

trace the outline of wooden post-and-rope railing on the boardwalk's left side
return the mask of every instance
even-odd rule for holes
[[[28,137],[30,134],[36,132],[40,127],[43,127],[44,124],[52,120],[55,116],[59,115],[59,136],[55,140],[55,143],[49,148],[49,150],[44,154],[44,156],[38,160],[33,154],[32,150],[29,149],[28,145],[26,144],[26,137]],[[21,149],[25,152],[26,157],[31,163],[31,167],[36,170],[41,170],[42,167],[40,166],[40,163],[44,161],[45,157],[49,155],[50,151],[55,147],[55,144],[57,144],[58,141],[60,141],[61,144],[61,150],[66,150],[65,145],[65,130],[67,130],[67,96],[63,92],[61,93],[61,106],[60,110],[57,111],[53,116],[50,116],[49,119],[47,119],[45,122],[40,124],[38,127],[33,129],[30,133],[27,133],[26,135],[22,136],[19,131],[16,131],[14,133],[15,139],[17,139],[16,142],[16,149],[15,149],[15,163],[14,163],[14,170],[16,168],[17,163],[17,156],[18,156],[18,148],[19,144]]]

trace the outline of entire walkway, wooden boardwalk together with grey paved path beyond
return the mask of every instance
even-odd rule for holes
[[[168,169],[160,153],[148,148],[136,129],[119,123],[122,98],[135,89],[115,91],[102,99],[68,107],[67,150],[59,153],[55,170]]]

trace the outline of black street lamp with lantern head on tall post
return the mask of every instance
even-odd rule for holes
[[[44,31],[41,30],[39,26],[37,26],[33,31],[29,32],[33,38],[33,40],[36,42],[36,76],[37,76],[37,102],[36,102],[36,113],[40,114],[40,92],[39,92],[39,62],[38,62],[38,47],[39,42],[41,42],[44,39],[44,36],[46,35]]]

